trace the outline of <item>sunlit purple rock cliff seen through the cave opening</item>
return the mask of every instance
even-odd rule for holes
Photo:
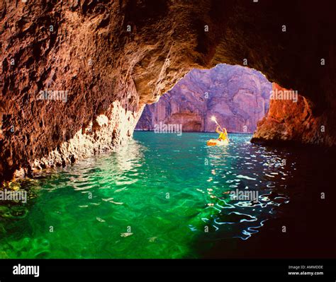
[[[215,131],[211,117],[230,132],[252,133],[269,109],[271,83],[254,69],[218,64],[193,69],[159,102],[146,105],[135,129],[182,124],[183,131]]]

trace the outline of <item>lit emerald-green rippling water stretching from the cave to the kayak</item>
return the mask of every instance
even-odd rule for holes
[[[218,240],[248,240],[288,202],[290,164],[250,135],[206,146],[214,136],[135,132],[118,153],[16,183],[31,199],[0,206],[0,256],[196,258]],[[230,199],[235,189],[259,201]]]

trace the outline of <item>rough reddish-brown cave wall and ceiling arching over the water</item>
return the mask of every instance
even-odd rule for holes
[[[1,1],[0,179],[125,145],[147,103],[219,63],[304,97],[271,102],[254,141],[335,146],[335,23],[325,1]]]

